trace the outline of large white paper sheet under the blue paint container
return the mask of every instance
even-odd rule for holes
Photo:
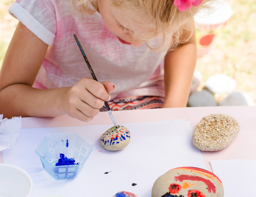
[[[3,161],[29,172],[34,181],[31,197],[112,197],[121,190],[151,197],[155,180],[169,169],[206,169],[201,152],[192,143],[193,131],[188,120],[122,125],[130,130],[131,140],[120,151],[107,151],[100,144],[101,135],[112,125],[22,129],[15,148],[3,151]],[[83,137],[94,150],[76,179],[55,180],[44,171],[35,148],[47,134],[71,132]]]

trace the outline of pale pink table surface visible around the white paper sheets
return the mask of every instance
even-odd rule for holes
[[[202,117],[213,113],[232,116],[241,125],[234,141],[221,151],[202,151],[207,169],[212,171],[210,160],[216,159],[256,159],[256,106],[190,107],[169,109],[140,109],[112,112],[117,124],[148,122],[158,120],[188,119],[193,130]],[[84,125],[112,124],[108,112],[100,112],[89,123],[73,119],[67,115],[55,118],[22,118],[22,129],[46,127],[73,127]],[[191,139],[192,140],[192,139]],[[0,163],[3,163],[0,152]]]

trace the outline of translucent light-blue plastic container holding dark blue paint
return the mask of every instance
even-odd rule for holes
[[[68,140],[68,144],[67,144]],[[75,179],[83,168],[93,147],[78,134],[49,134],[36,147],[43,168],[54,179]],[[74,158],[78,165],[55,166],[60,153],[67,158]]]

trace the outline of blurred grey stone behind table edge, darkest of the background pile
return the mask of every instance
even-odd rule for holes
[[[192,93],[187,101],[190,107],[217,106],[213,95],[208,90],[201,90]]]

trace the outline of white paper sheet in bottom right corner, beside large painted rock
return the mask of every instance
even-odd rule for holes
[[[256,159],[212,160],[213,173],[224,186],[224,197],[255,197]]]

